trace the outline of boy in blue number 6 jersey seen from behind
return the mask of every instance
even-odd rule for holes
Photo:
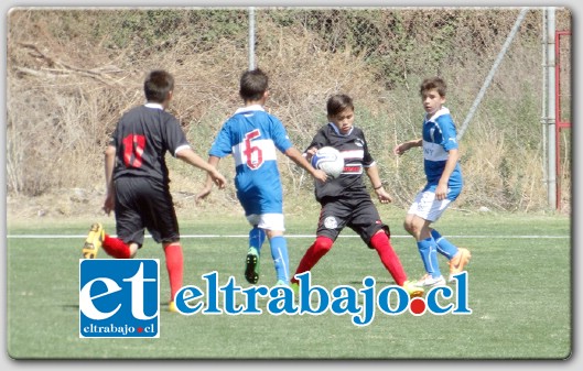
[[[327,176],[315,170],[290,142],[281,121],[266,112],[269,97],[268,76],[259,68],[247,70],[240,78],[239,95],[245,107],[239,108],[224,124],[216,137],[208,163],[217,166],[222,157],[235,157],[235,186],[237,198],[245,210],[249,231],[249,250],[246,258],[245,277],[256,284],[259,281],[261,245],[269,239],[277,285],[290,281],[288,244],[283,237],[283,193],[277,163],[277,150],[306,170],[319,182]],[[206,197],[213,187],[207,178],[197,199]]]

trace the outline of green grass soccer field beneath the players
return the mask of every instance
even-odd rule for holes
[[[385,220],[392,244],[411,279],[422,273],[412,238],[401,227],[402,211]],[[287,219],[290,264],[295,269],[313,234],[315,215]],[[8,220],[7,346],[15,359],[564,359],[572,351],[571,225],[565,216],[463,215],[449,211],[435,227],[471,249],[467,316],[377,310],[369,326],[350,316],[194,315],[165,310],[168,274],[160,245],[147,240],[138,258],[161,261],[159,339],[80,339],[78,263],[80,238],[23,238],[21,234],[84,236],[90,221],[11,222]],[[112,218],[104,218],[114,232]],[[187,220],[188,234],[246,234],[242,217]],[[361,286],[371,275],[378,286],[393,284],[375,251],[345,230],[312,271],[313,284],[331,290]],[[245,238],[184,238],[185,285],[204,287],[212,271],[226,283],[242,275]],[[99,258],[106,258],[102,253]],[[446,272],[445,259],[440,258]],[[260,284],[274,283],[269,247],[263,245]],[[267,301],[261,302],[266,303]]]

